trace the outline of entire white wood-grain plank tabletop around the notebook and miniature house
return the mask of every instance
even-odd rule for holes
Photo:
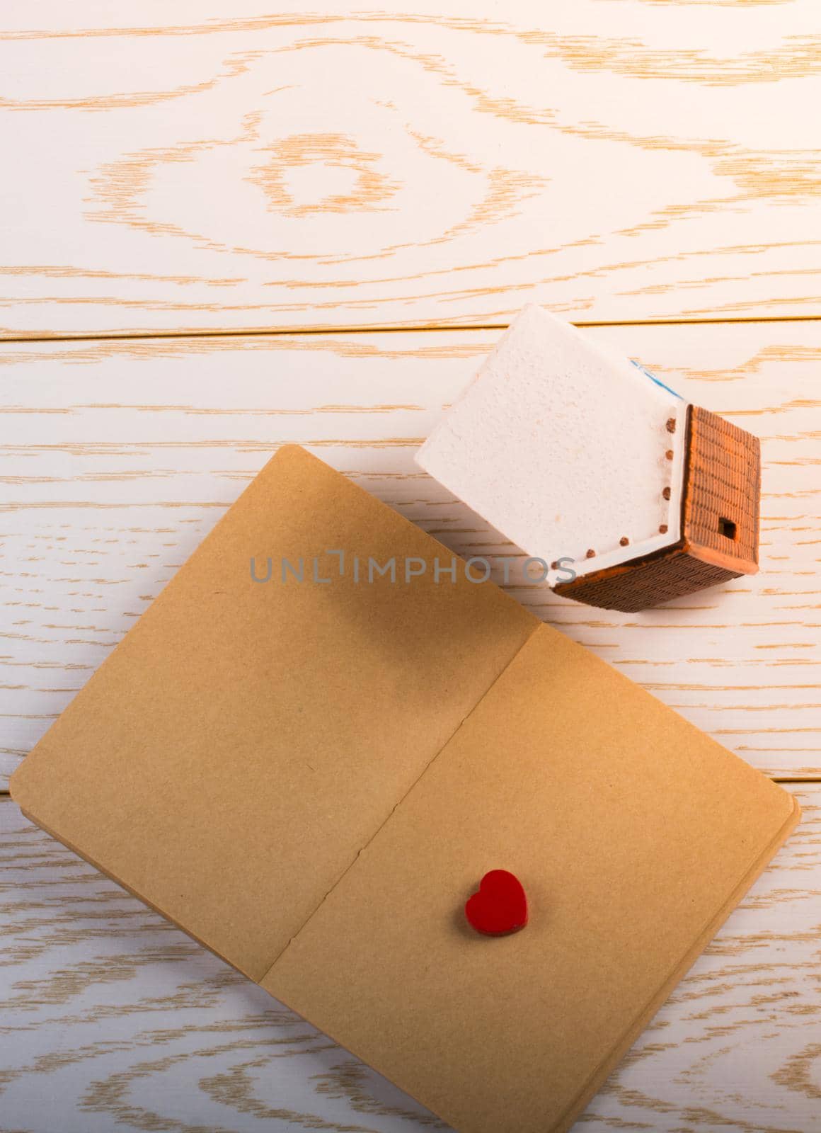
[[[7,5],[0,792],[224,509],[306,444],[460,553],[412,455],[525,301],[821,320],[816,0]],[[95,340],[94,335],[206,337]],[[761,573],[515,596],[770,774],[821,778],[821,322],[591,331],[762,441]],[[821,784],[576,1126],[821,1127]],[[0,1131],[430,1115],[0,798]]]

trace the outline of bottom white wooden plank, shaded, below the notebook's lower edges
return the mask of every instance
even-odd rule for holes
[[[575,1130],[814,1133],[821,786]],[[5,1133],[441,1127],[0,800]]]

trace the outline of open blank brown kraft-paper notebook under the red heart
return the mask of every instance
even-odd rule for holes
[[[11,790],[456,1128],[564,1130],[797,808],[451,565],[280,450]],[[494,868],[530,900],[496,939],[463,918]]]

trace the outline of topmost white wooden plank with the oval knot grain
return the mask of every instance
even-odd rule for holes
[[[40,0],[0,333],[821,313],[816,0]]]

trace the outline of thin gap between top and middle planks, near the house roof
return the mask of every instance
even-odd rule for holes
[[[597,326],[726,326],[726,325],[756,325],[760,323],[818,323],[821,315],[763,315],[761,317],[738,317],[738,318],[615,318],[615,320],[570,320],[571,325],[579,327]],[[5,346],[25,346],[29,342],[130,342],[145,339],[209,339],[209,338],[248,338],[260,335],[299,335],[310,338],[311,335],[342,335],[342,334],[441,334],[455,333],[459,331],[506,331],[510,323],[428,323],[419,325],[397,323],[395,325],[369,325],[366,323],[351,324],[350,326],[249,326],[240,330],[202,330],[191,327],[182,331],[134,331],[101,332],[99,334],[24,334],[14,338],[0,335],[0,349]]]

